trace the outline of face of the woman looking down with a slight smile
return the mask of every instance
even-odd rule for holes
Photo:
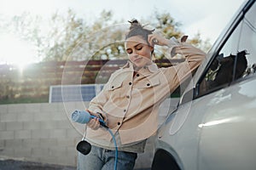
[[[141,68],[152,63],[151,52],[153,47],[148,45],[142,37],[129,37],[125,41],[125,50],[131,63]]]

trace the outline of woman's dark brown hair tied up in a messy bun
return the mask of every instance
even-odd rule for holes
[[[141,36],[146,42],[148,42],[148,35],[153,34],[154,30],[145,29],[144,26],[142,26],[136,19],[133,19],[131,21],[128,20],[128,22],[131,23],[131,26],[129,31],[125,35],[125,39],[134,36]]]

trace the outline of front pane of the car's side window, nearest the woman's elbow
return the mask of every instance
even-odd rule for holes
[[[201,78],[199,95],[208,94],[228,86],[234,77],[234,65],[237,54],[244,54],[245,51],[237,51],[241,34],[242,22],[236,26],[228,40],[224,43],[215,58],[209,65],[206,74]]]

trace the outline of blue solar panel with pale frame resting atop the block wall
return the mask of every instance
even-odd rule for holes
[[[49,87],[49,103],[90,101],[102,91],[104,84],[57,85]]]

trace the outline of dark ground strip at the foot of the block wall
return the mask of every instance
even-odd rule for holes
[[[0,170],[76,170],[76,167],[65,167],[32,161],[0,160]],[[136,170],[150,170],[150,168]]]

